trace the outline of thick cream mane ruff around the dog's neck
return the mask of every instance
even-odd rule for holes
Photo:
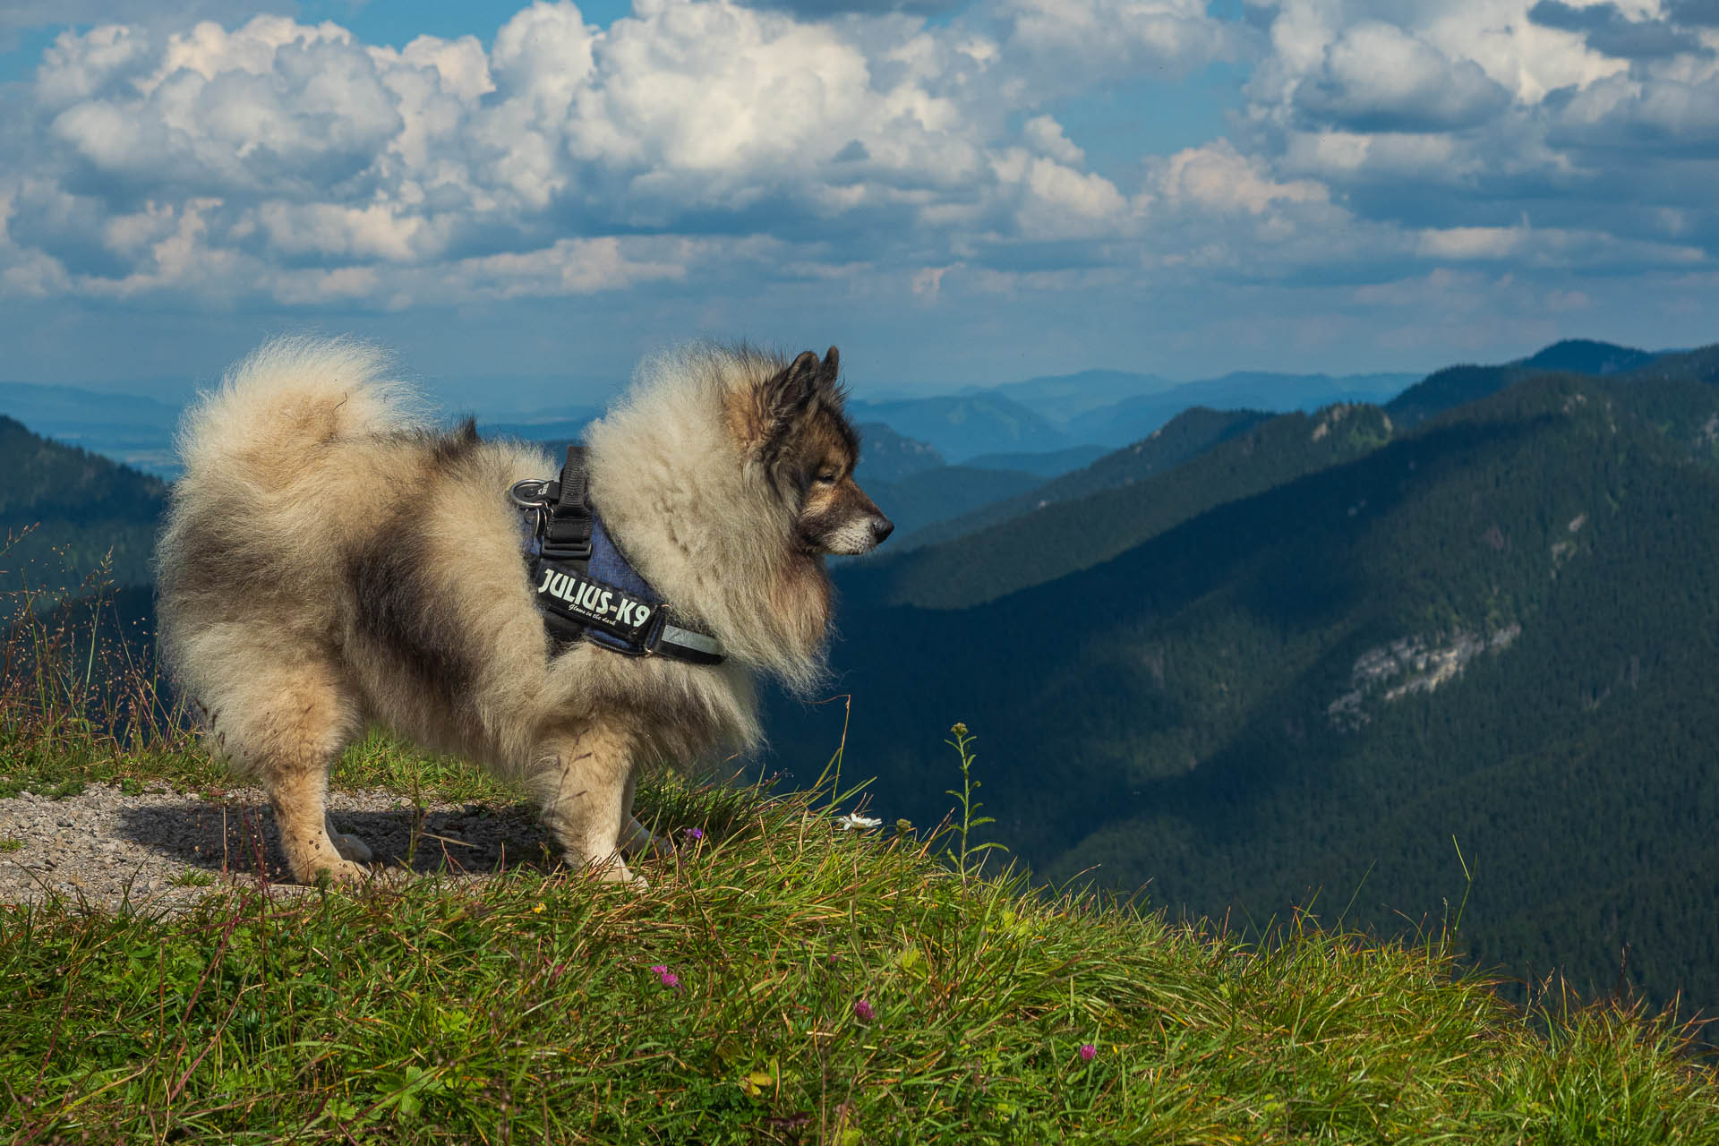
[[[591,500],[645,579],[732,656],[808,694],[825,677],[829,576],[731,421],[782,366],[710,344],[655,354],[586,443]]]

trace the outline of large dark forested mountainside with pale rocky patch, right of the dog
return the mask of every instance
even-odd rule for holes
[[[964,720],[995,835],[1042,878],[1241,926],[1315,897],[1379,930],[1437,917],[1468,890],[1461,847],[1477,960],[1719,1003],[1719,388],[1698,378],[1422,393],[1406,435],[1377,407],[1286,416],[844,572],[847,768],[887,814],[935,818]],[[841,713],[772,727],[815,758]]]

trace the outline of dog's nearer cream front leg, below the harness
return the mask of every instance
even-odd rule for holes
[[[572,864],[605,881],[645,885],[621,856],[621,842],[631,840],[622,826],[636,823],[633,739],[624,730],[590,723],[548,737],[529,780],[543,808],[543,825]]]

